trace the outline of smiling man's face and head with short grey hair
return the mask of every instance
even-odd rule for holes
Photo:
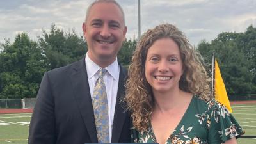
[[[118,6],[113,3],[94,4],[83,24],[88,56],[101,67],[113,63],[125,40],[126,31]]]

